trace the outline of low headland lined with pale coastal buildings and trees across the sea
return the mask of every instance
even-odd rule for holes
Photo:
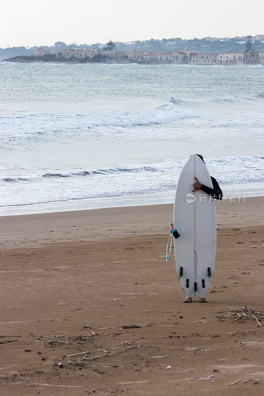
[[[56,44],[56,43],[55,43]],[[62,43],[61,43],[62,44]],[[111,40],[107,47],[99,48],[62,48],[60,51],[41,47],[34,55],[18,55],[5,58],[8,62],[67,62],[67,63],[139,63],[139,64],[191,64],[193,66],[210,65],[257,65],[264,64],[264,50],[255,50],[253,39],[247,37],[246,49],[228,49],[218,52],[200,52],[195,49],[162,50],[150,49],[119,50]]]

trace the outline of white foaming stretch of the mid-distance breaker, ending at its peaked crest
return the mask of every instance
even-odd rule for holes
[[[57,132],[80,132],[104,127],[129,128],[162,125],[188,117],[195,112],[182,108],[171,100],[154,109],[134,112],[108,113],[13,113],[0,115],[3,133],[0,139],[28,138]],[[11,135],[10,135],[11,129]],[[15,133],[14,133],[15,132]]]

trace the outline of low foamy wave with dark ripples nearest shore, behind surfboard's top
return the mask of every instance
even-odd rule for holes
[[[0,206],[173,191],[186,159],[98,169],[56,169],[38,174],[21,169],[20,174],[17,171],[13,176],[8,172],[8,177],[0,180]],[[206,158],[205,161],[209,173],[223,190],[225,185],[263,181],[264,157],[261,155]]]

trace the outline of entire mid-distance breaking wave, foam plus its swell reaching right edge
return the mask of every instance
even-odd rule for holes
[[[17,112],[1,114],[1,135],[9,145],[22,140],[43,140],[63,135],[66,137],[98,136],[107,132],[108,138],[113,133],[126,133],[131,128],[171,124],[184,118],[199,117],[199,111],[210,103],[214,105],[247,104],[249,101],[263,99],[264,94],[248,96],[228,96],[209,99],[183,99],[172,96],[167,103],[156,108],[130,112]]]

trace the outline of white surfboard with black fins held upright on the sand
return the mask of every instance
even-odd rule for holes
[[[216,209],[208,194],[192,193],[195,176],[212,188],[207,167],[197,154],[188,159],[177,184],[173,224],[180,237],[174,238],[174,253],[183,290],[188,297],[203,298],[214,270]]]

